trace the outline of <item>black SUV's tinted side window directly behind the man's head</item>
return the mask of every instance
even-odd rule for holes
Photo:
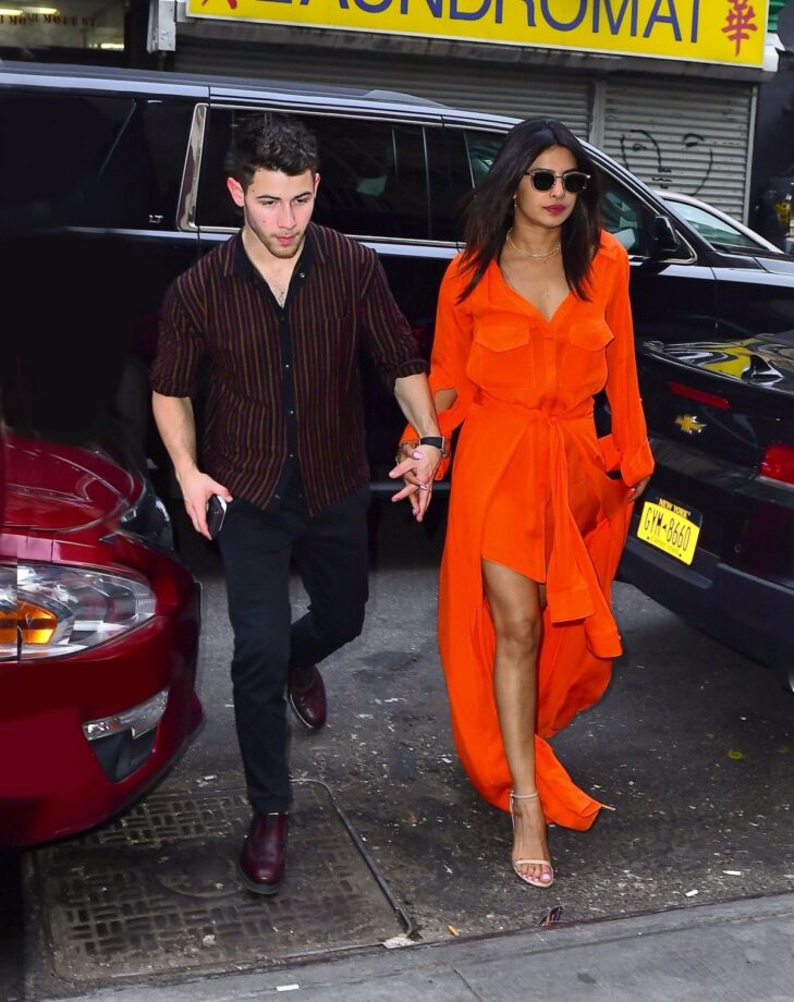
[[[251,113],[249,109],[210,111],[198,185],[199,227],[240,225],[227,191],[229,155],[234,129]],[[355,236],[428,239],[428,178],[420,126],[335,115],[293,118],[317,137],[320,186],[315,222]]]

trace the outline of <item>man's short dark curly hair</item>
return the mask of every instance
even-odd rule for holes
[[[317,140],[308,129],[286,115],[249,114],[236,126],[230,174],[247,188],[257,170],[296,176],[317,173]]]

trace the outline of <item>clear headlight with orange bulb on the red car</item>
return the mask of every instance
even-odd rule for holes
[[[13,614],[22,660],[60,658],[107,644],[156,612],[143,579],[89,567],[20,563],[16,581],[0,584],[3,634]],[[13,594],[15,592],[15,594]]]

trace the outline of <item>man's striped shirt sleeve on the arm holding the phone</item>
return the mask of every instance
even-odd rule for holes
[[[160,311],[151,389],[163,396],[193,396],[204,357],[204,339],[191,320],[174,283]]]

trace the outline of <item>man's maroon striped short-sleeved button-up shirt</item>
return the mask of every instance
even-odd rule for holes
[[[151,384],[195,396],[201,382],[199,467],[233,497],[265,508],[297,462],[316,514],[369,479],[362,346],[391,390],[427,371],[372,250],[309,223],[281,309],[239,233],[169,290]]]

